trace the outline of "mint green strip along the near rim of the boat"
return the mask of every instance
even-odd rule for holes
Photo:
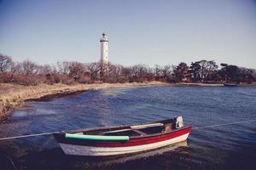
[[[65,137],[68,139],[86,139],[98,141],[127,141],[129,136],[100,136],[100,135],[87,135],[87,134],[73,134],[66,133]]]

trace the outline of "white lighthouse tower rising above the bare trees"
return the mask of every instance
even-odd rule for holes
[[[103,65],[108,65],[108,37],[104,32],[101,37],[101,61]]]

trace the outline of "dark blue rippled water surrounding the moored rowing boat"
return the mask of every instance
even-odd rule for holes
[[[178,115],[194,127],[256,119],[256,88],[122,88],[34,101],[0,125],[0,138]],[[0,141],[1,169],[14,169],[10,158],[17,169],[255,169],[256,122],[194,129],[187,142],[114,159],[65,156],[51,135]]]

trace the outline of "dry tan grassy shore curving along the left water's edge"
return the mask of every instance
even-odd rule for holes
[[[132,83],[101,83],[101,84],[40,84],[38,86],[21,86],[0,83],[0,122],[7,122],[9,112],[23,105],[27,100],[49,99],[67,94],[97,90],[103,88],[132,88],[153,85],[167,85],[165,82],[132,82]]]

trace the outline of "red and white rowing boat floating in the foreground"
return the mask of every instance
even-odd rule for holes
[[[67,155],[119,156],[155,150],[185,141],[191,126],[182,116],[132,126],[97,127],[54,133]]]

